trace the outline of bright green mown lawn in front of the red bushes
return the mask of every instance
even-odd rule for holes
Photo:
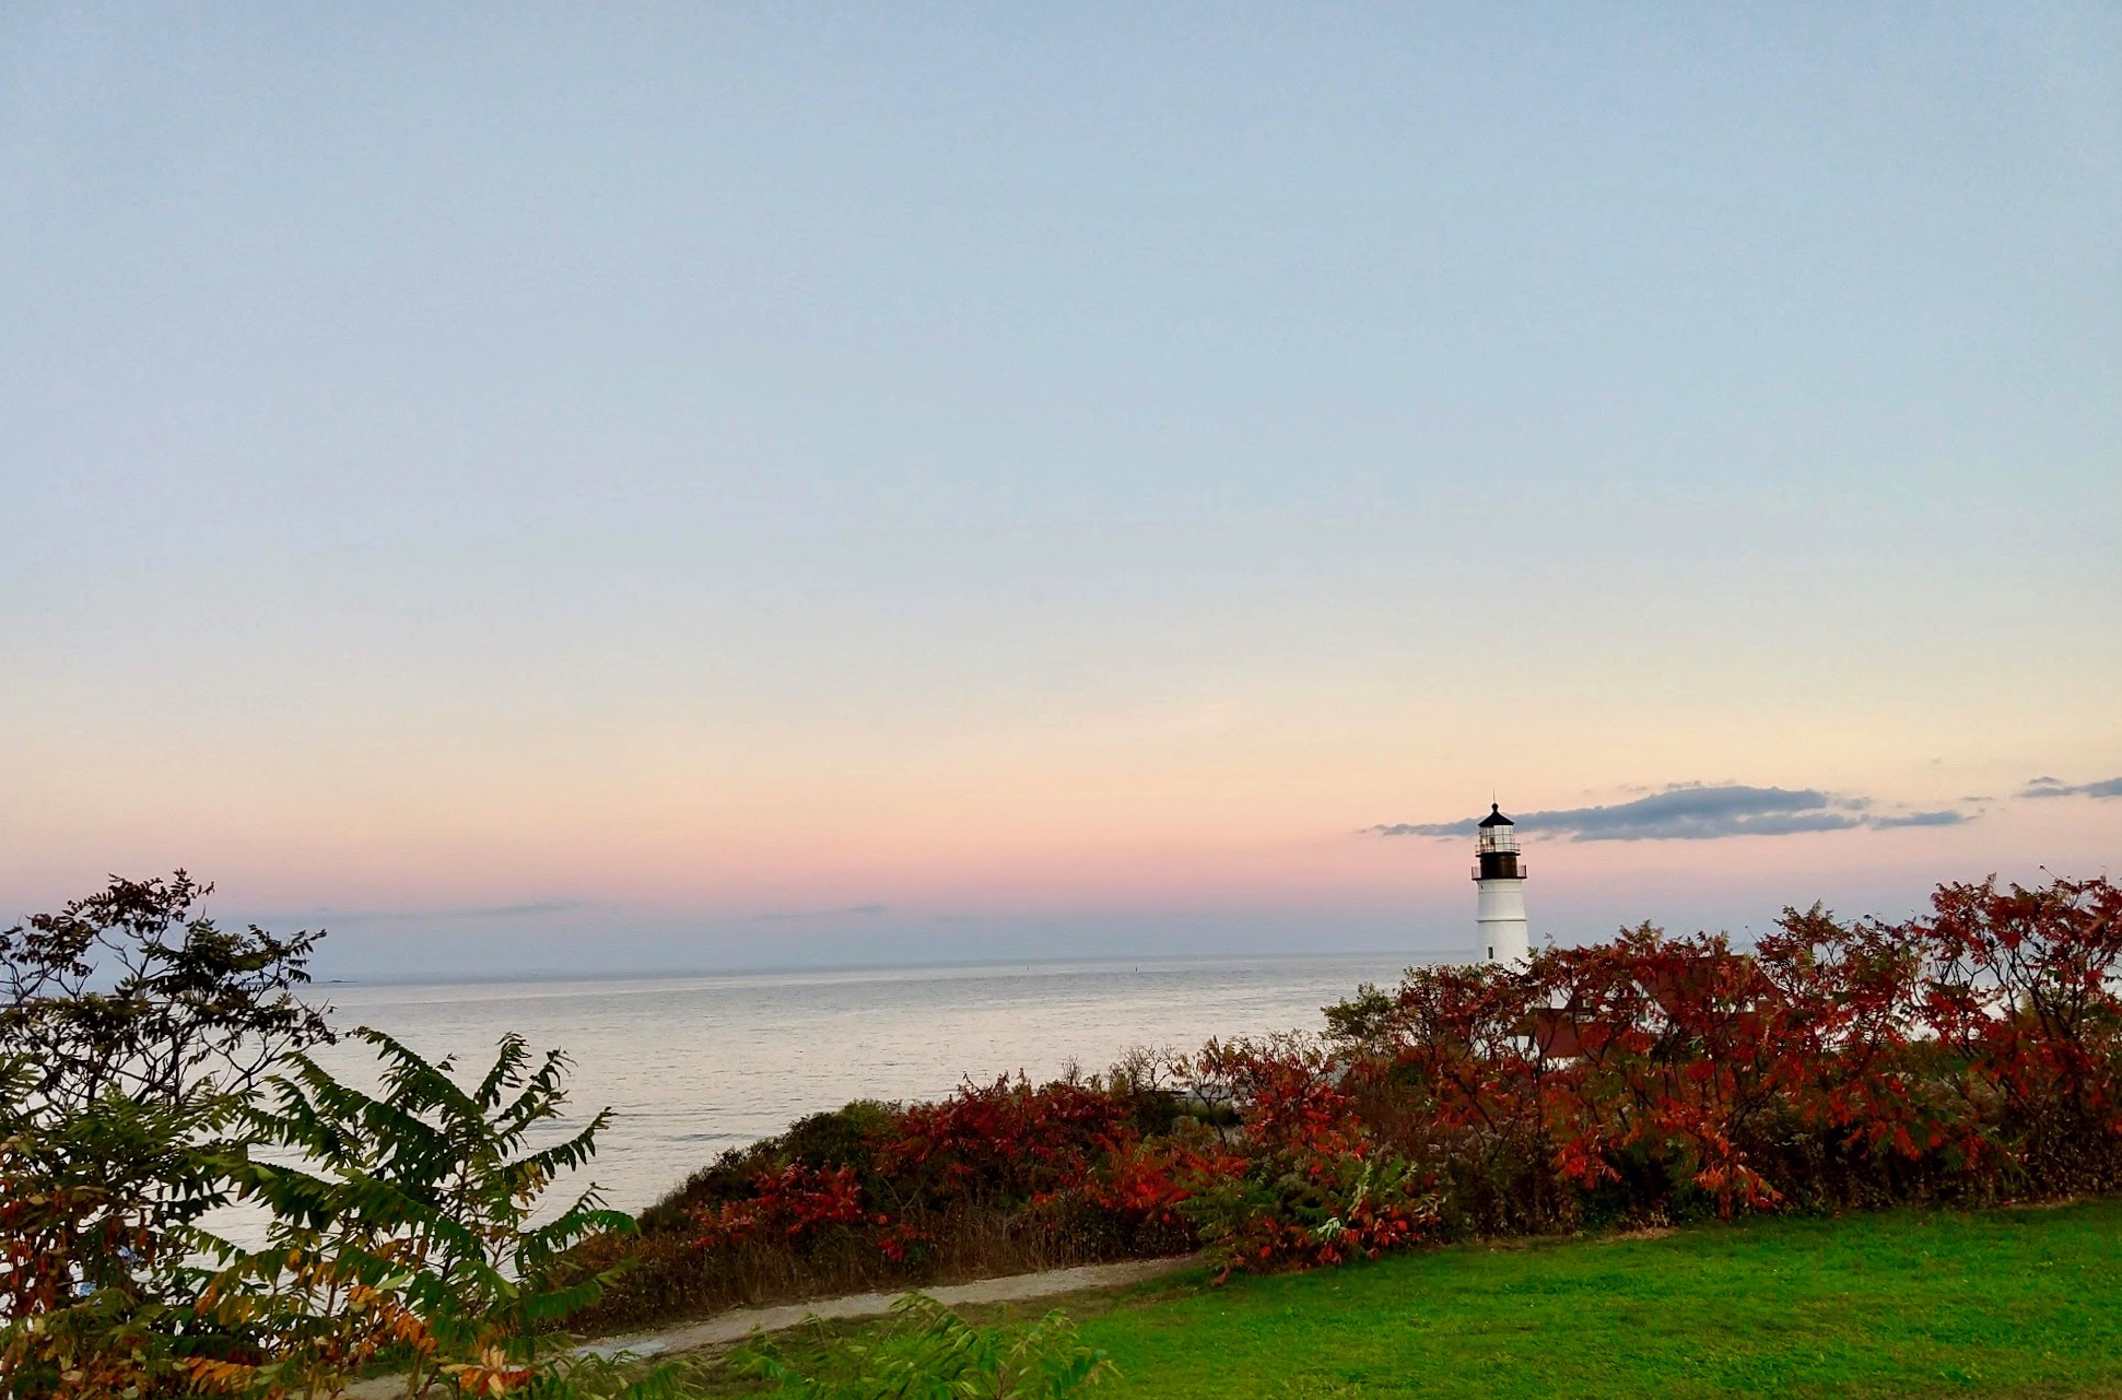
[[[2122,1394],[2122,1203],[1150,1285],[1082,1332],[1116,1398]]]

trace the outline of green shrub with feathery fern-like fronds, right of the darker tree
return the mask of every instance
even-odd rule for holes
[[[390,1355],[407,1366],[407,1396],[437,1383],[554,1392],[550,1334],[622,1268],[586,1268],[575,1252],[634,1222],[594,1190],[543,1222],[539,1207],[556,1175],[590,1160],[609,1114],[530,1150],[530,1133],[567,1101],[558,1050],[533,1061],[522,1037],[503,1037],[492,1067],[465,1086],[448,1058],[429,1063],[382,1031],[354,1035],[384,1061],[380,1095],[295,1054],[250,1112],[255,1139],[299,1152],[301,1165],[240,1173],[244,1196],[272,1209],[269,1239],[257,1252],[223,1245],[204,1305],[259,1358],[214,1379],[331,1394]]]

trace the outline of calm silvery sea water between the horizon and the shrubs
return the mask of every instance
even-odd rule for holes
[[[934,1099],[963,1078],[1067,1063],[1103,1069],[1131,1046],[1195,1048],[1210,1035],[1318,1029],[1358,982],[1396,980],[1407,957],[1033,963],[798,972],[611,982],[325,986],[340,1029],[369,1025],[475,1073],[507,1031],[575,1061],[577,1126],[611,1105],[584,1173],[641,1209],[726,1148],[849,1099]],[[365,1048],[320,1054],[373,1082]],[[575,1182],[581,1186],[581,1182]]]

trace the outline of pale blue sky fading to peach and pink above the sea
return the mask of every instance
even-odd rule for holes
[[[2118,539],[2111,4],[0,4],[0,918],[1901,916],[2114,872]]]

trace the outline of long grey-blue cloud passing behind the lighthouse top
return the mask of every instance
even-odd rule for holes
[[[1853,832],[1859,827],[1950,827],[1971,821],[1967,812],[1954,810],[1874,817],[1869,806],[1869,798],[1840,798],[1816,787],[1674,783],[1634,802],[1526,812],[1515,821],[1519,832],[1555,832],[1570,840],[1719,840],[1725,836],[1795,836],[1799,832]],[[1432,838],[1466,838],[1477,829],[1479,817],[1369,827],[1377,836]]]

